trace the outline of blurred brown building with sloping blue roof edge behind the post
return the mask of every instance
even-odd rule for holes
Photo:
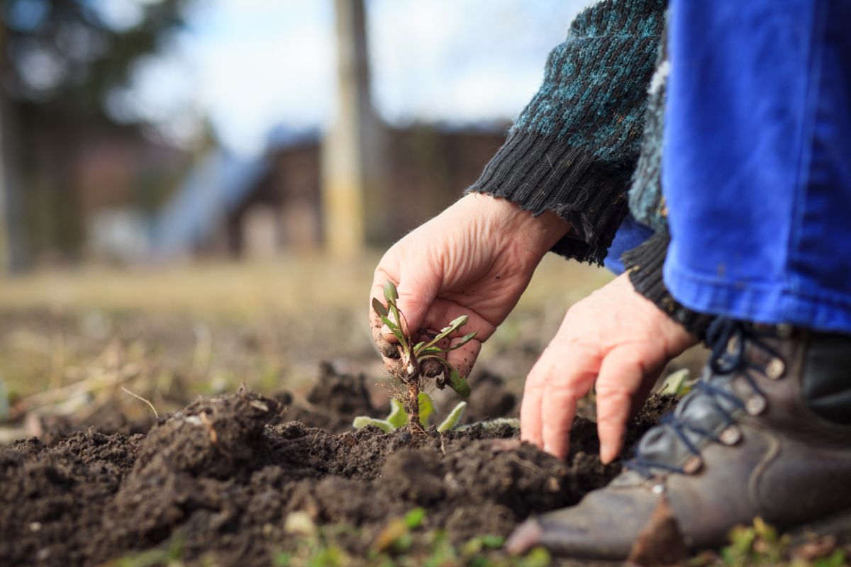
[[[386,128],[382,179],[389,196],[383,241],[439,213],[478,177],[505,139],[503,124]],[[267,257],[323,245],[319,133],[272,133],[264,156],[210,150],[151,226],[159,258]],[[367,212],[366,219],[369,221]]]

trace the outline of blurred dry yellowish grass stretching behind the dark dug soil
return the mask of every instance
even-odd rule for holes
[[[77,405],[120,405],[143,416],[146,405],[121,388],[168,411],[243,382],[266,393],[303,391],[320,360],[380,382],[385,371],[366,324],[378,258],[86,267],[3,280],[0,376],[48,412],[66,402],[54,400],[56,392],[71,392]],[[504,377],[519,393],[568,307],[610,279],[549,255],[484,345],[477,371]]]

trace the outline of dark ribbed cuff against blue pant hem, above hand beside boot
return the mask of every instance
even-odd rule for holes
[[[636,291],[652,301],[671,319],[684,326],[688,332],[703,340],[706,327],[712,322],[714,316],[684,307],[665,287],[662,267],[665,265],[665,255],[670,241],[667,232],[657,232],[638,247],[625,252],[621,258],[629,271],[630,281]]]

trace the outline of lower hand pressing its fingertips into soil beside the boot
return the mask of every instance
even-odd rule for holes
[[[522,438],[559,458],[568,453],[576,403],[596,385],[604,463],[618,456],[626,421],[668,360],[697,339],[620,275],[575,303],[529,372],[520,410]]]

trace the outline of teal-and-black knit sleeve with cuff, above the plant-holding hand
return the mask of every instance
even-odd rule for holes
[[[665,0],[603,0],[579,14],[544,82],[468,191],[567,220],[553,252],[602,264],[627,213]]]

